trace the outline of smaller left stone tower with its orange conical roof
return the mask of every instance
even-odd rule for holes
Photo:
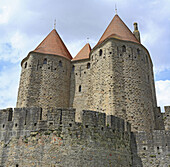
[[[71,55],[52,30],[21,62],[17,107],[69,107]]]

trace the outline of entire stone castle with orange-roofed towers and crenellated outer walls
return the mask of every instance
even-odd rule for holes
[[[153,64],[116,14],[72,58],[55,29],[21,62],[15,109],[0,110],[0,166],[169,167],[170,106]]]

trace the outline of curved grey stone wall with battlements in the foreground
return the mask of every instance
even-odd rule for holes
[[[16,166],[126,166],[132,165],[130,124],[114,116],[53,109],[42,121],[41,108],[0,111],[0,165]],[[12,113],[12,115],[11,115]]]

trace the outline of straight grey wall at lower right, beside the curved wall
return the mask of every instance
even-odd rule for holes
[[[135,137],[137,154],[144,167],[170,166],[170,131],[154,130],[152,134],[138,132]]]

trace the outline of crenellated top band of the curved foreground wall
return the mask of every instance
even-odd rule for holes
[[[60,131],[59,133],[76,136],[78,134],[86,136],[89,132],[89,135],[99,133],[105,134],[107,138],[119,136],[122,140],[128,140],[130,137],[130,124],[123,119],[112,115],[106,117],[105,113],[83,110],[82,123],[78,123],[75,121],[75,112],[75,109],[55,108],[47,112],[47,120],[42,120],[42,108],[0,110],[0,140],[7,142],[12,137],[29,136],[31,132],[41,130],[57,130]]]

